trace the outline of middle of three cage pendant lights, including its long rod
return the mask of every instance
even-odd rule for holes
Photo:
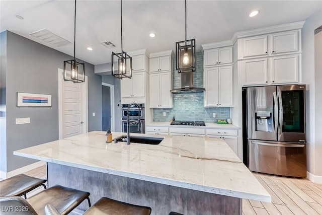
[[[123,79],[132,78],[132,57],[123,51],[123,34],[122,34],[122,7],[123,0],[121,0],[121,53],[112,52],[112,76]],[[118,67],[114,70],[114,57],[118,61]]]

